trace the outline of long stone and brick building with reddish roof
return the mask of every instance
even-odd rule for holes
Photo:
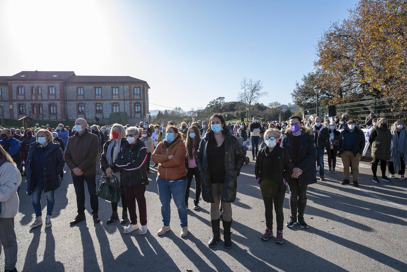
[[[4,118],[35,120],[85,118],[107,123],[125,112],[129,124],[148,120],[149,84],[129,76],[75,75],[73,71],[22,71],[0,76]],[[1,109],[0,109],[1,110]]]

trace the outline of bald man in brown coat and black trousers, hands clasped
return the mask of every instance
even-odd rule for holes
[[[72,181],[77,196],[78,215],[71,225],[85,220],[85,186],[86,181],[90,195],[90,206],[94,223],[101,219],[98,216],[99,203],[96,196],[96,158],[99,153],[99,139],[90,133],[85,119],[75,121],[75,134],[69,137],[65,149],[65,161],[71,170]]]

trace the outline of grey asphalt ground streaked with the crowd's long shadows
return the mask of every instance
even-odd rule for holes
[[[254,163],[244,165],[232,205],[231,249],[225,249],[223,241],[208,248],[209,204],[203,201],[200,210],[188,211],[190,233],[184,238],[179,236],[179,219],[172,203],[172,231],[158,237],[162,220],[156,169],[149,174],[151,181],[146,192],[149,232],[144,236],[138,231],[123,234],[118,221],[107,225],[111,205],[101,199],[102,222],[94,224],[88,195],[87,220],[70,227],[69,221],[76,216],[77,208],[69,172],[56,191],[53,226],[30,229],[33,207],[25,192],[26,184],[22,183],[20,208],[15,217],[17,268],[28,272],[407,271],[407,180],[374,184],[368,163],[361,163],[361,172],[359,188],[339,184],[344,178],[342,169],[337,174],[326,174],[326,181],[311,185],[305,217],[310,227],[305,230],[298,225],[291,229],[284,226],[284,244],[277,245],[274,239],[260,240],[265,230],[263,200],[254,179]],[[191,188],[190,206],[193,197],[195,185]],[[284,222],[289,219],[288,197],[287,190]],[[46,205],[45,195],[42,203]],[[45,208],[43,212],[44,220]],[[3,254],[0,267],[4,265]]]

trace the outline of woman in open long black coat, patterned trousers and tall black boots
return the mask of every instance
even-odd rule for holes
[[[202,198],[210,203],[213,237],[208,245],[212,247],[221,239],[219,210],[221,204],[225,248],[231,248],[232,202],[236,199],[237,177],[245,155],[241,144],[232,135],[221,114],[212,115],[209,124],[208,132],[201,140],[195,159],[201,175]]]

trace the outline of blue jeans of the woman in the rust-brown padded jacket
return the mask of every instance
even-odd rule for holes
[[[179,179],[170,182],[166,179],[157,177],[158,195],[161,202],[161,215],[164,226],[170,226],[171,219],[171,196],[174,199],[175,206],[178,209],[179,220],[181,227],[188,226],[185,205],[185,191],[188,184],[188,179]]]

